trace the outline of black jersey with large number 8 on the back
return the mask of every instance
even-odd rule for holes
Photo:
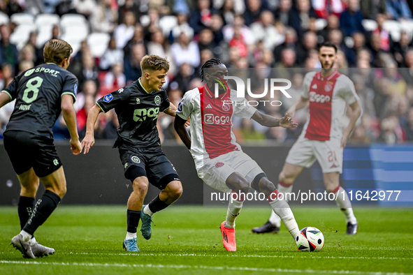
[[[26,131],[53,138],[52,128],[61,112],[61,96],[70,94],[73,101],[78,79],[56,64],[42,64],[20,75],[3,89],[16,100],[6,131]]]

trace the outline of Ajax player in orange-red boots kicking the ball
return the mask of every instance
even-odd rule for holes
[[[208,72],[204,72],[208,68]],[[236,251],[235,220],[240,214],[245,194],[249,187],[264,193],[273,211],[280,216],[285,226],[296,238],[298,225],[289,205],[278,200],[278,191],[259,165],[242,152],[232,132],[232,117],[254,119],[268,127],[296,127],[287,117],[276,119],[262,114],[247,105],[245,98],[236,98],[236,91],[228,88],[222,77],[228,75],[226,66],[219,59],[210,59],[201,68],[205,78],[204,87],[187,91],[177,107],[175,130],[191,151],[196,171],[205,184],[226,193],[231,193],[226,221],[221,224],[222,243],[227,251]],[[219,83],[219,96],[213,89]],[[184,128],[191,119],[191,137]]]

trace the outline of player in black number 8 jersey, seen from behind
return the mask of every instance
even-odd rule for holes
[[[22,186],[17,206],[22,231],[11,244],[24,258],[55,253],[55,249],[38,244],[33,235],[66,193],[66,179],[52,133],[60,112],[71,135],[73,154],[81,151],[73,109],[78,80],[66,70],[72,52],[64,40],[48,41],[43,49],[46,64],[21,73],[0,94],[0,107],[16,100],[4,132],[4,147]],[[39,179],[46,191],[35,205]]]

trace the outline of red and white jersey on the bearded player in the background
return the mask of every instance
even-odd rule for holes
[[[337,70],[328,77],[322,77],[320,72],[307,73],[303,98],[310,102],[310,117],[301,135],[309,140],[340,140],[346,107],[358,101],[352,80]]]

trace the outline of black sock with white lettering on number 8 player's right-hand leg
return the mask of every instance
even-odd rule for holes
[[[24,225],[23,230],[33,235],[36,229],[49,218],[59,202],[60,197],[58,195],[46,190],[40,200],[34,205],[29,221]]]

